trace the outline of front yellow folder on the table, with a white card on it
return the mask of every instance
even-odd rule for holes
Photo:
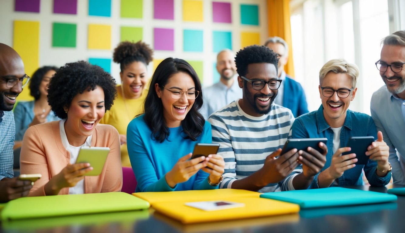
[[[218,199],[218,198],[217,198]],[[219,198],[222,201],[244,203],[244,207],[225,210],[205,211],[185,205],[188,201],[153,203],[153,208],[182,223],[213,222],[241,218],[254,218],[297,213],[299,205],[258,197]]]

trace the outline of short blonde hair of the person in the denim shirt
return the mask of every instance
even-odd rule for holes
[[[326,74],[333,72],[335,74],[343,73],[352,78],[352,88],[356,88],[358,78],[358,67],[356,64],[348,63],[345,59],[332,59],[325,63],[319,71],[319,84],[322,84]]]

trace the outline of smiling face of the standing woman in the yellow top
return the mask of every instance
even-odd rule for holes
[[[119,73],[122,80],[124,95],[127,99],[139,98],[147,81],[146,66],[141,61],[134,61]]]

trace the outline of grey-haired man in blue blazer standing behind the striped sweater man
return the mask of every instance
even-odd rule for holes
[[[294,117],[301,116],[308,112],[308,104],[305,92],[300,83],[284,71],[284,66],[288,61],[288,44],[283,38],[278,36],[270,37],[264,46],[272,49],[279,58],[278,78],[282,80],[278,89],[274,103],[289,108]]]

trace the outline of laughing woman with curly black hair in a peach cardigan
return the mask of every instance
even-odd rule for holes
[[[42,174],[29,196],[121,191],[118,132],[98,124],[115,95],[115,81],[99,66],[78,61],[58,70],[49,83],[48,103],[62,120],[34,125],[23,138],[21,174]],[[100,175],[85,176],[93,167],[75,163],[83,146],[110,148]]]

